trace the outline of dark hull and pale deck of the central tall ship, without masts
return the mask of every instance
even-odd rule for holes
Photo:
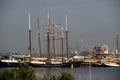
[[[46,60],[32,60],[30,66],[32,67],[70,67],[73,64],[74,67],[79,67],[82,61],[67,61],[62,59],[50,59]]]

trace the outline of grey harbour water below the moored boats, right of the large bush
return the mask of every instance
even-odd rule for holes
[[[78,67],[78,68],[34,68],[37,76],[56,75],[69,72],[74,80],[120,80],[120,68],[115,67]]]

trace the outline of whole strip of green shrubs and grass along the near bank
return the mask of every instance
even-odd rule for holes
[[[0,80],[74,80],[74,77],[68,72],[44,75],[37,78],[35,72],[27,64],[20,64],[19,68],[4,69],[0,71]]]

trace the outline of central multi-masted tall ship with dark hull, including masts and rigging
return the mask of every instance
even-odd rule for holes
[[[30,15],[29,17],[29,53],[31,55],[31,31],[30,31]],[[47,57],[42,56],[41,49],[41,41],[40,41],[40,27],[39,27],[39,18],[38,21],[38,46],[39,46],[39,54],[40,57],[34,58],[31,56],[30,66],[33,67],[70,67],[73,65],[74,67],[79,67],[82,60],[71,60],[68,54],[68,26],[67,26],[67,16],[66,16],[66,30],[64,31],[63,26],[61,24],[54,23],[48,13],[48,24],[46,28],[46,45],[47,45]],[[59,31],[55,31],[55,28],[59,26]],[[64,33],[66,36],[64,37]],[[60,38],[56,38],[56,35],[59,35]],[[56,55],[56,44],[55,41],[61,41],[61,56]],[[66,41],[66,42],[65,42]],[[52,44],[51,44],[52,42]],[[64,47],[64,44],[66,46]],[[51,47],[52,45],[52,47]],[[64,49],[66,48],[66,57],[64,56]],[[53,50],[53,56],[51,55],[51,49]]]

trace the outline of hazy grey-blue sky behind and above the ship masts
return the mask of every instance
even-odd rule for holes
[[[33,47],[37,46],[37,16],[43,36],[48,12],[64,28],[68,15],[70,47],[107,44],[114,49],[115,35],[120,35],[120,0],[0,0],[1,53],[27,52],[28,12]]]

